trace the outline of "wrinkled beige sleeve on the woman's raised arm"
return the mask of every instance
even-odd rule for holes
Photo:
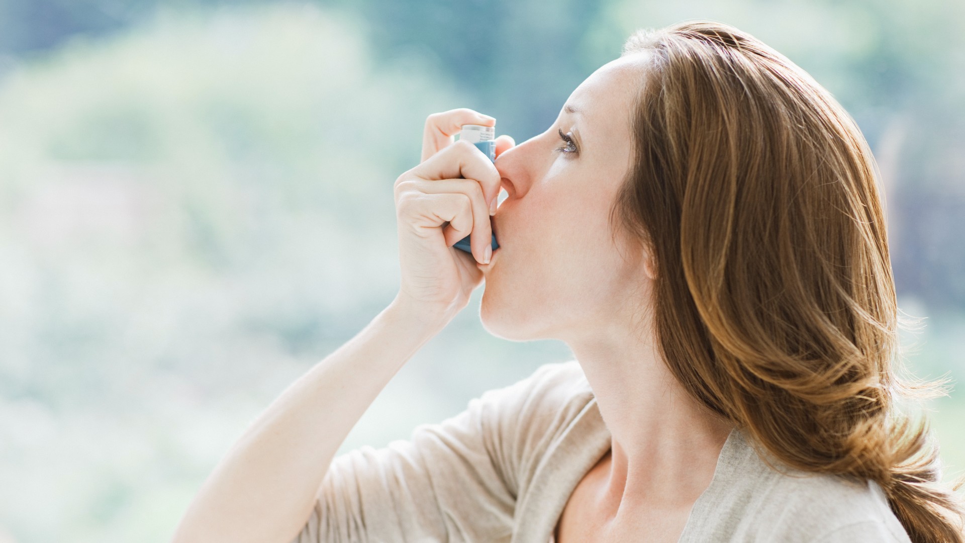
[[[409,441],[336,457],[291,543],[510,541],[521,442],[530,441],[523,413],[553,365],[417,426]]]

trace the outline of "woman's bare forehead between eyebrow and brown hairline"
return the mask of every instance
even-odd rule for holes
[[[593,71],[566,100],[585,119],[586,132],[628,137],[629,112],[644,76],[644,53],[634,53],[604,64]],[[589,144],[588,144],[589,145]]]

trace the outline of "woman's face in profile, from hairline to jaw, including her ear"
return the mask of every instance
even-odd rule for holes
[[[625,334],[649,300],[646,251],[608,224],[632,160],[630,112],[645,61],[631,54],[594,71],[549,129],[496,159],[508,196],[492,217],[500,250],[484,270],[480,309],[493,335],[593,342]]]

